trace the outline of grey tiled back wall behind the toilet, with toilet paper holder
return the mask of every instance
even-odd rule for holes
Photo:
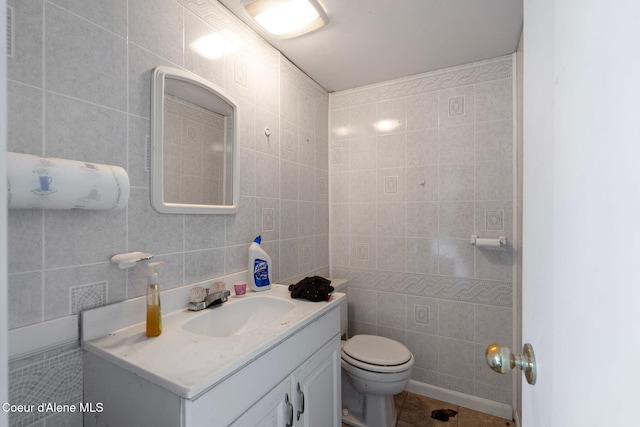
[[[331,273],[350,333],[405,343],[413,379],[511,404],[484,361],[511,345],[512,59],[331,94]]]

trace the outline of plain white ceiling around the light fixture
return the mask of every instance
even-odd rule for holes
[[[522,30],[522,0],[320,0],[327,26],[277,40],[220,2],[329,91],[509,54]]]

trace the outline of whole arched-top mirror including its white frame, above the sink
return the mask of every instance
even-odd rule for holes
[[[187,71],[157,67],[151,81],[151,205],[161,213],[238,210],[238,107]]]

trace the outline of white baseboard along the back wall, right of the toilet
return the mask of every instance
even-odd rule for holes
[[[473,409],[474,411],[504,418],[505,420],[511,420],[514,416],[511,406],[505,405],[504,403],[471,396],[420,381],[410,380],[406,390],[431,399],[442,400],[452,405],[463,406],[467,409]]]

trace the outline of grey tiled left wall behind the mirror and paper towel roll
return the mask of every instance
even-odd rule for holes
[[[15,38],[8,59],[9,151],[113,164],[131,180],[121,211],[9,211],[11,329],[142,295],[145,266],[119,270],[108,261],[121,252],[150,252],[164,261],[163,289],[244,270],[257,234],[281,283],[328,273],[328,95],[278,51],[216,1],[8,3]],[[224,41],[222,57],[191,48],[207,36]],[[150,76],[158,65],[192,71],[238,100],[236,215],[151,208],[145,155]],[[81,375],[63,394],[55,387],[14,387],[34,372],[65,377],[77,347],[54,353],[12,361],[10,388],[23,390],[12,399],[77,399]],[[81,425],[80,417],[43,416],[12,416],[11,423]]]

